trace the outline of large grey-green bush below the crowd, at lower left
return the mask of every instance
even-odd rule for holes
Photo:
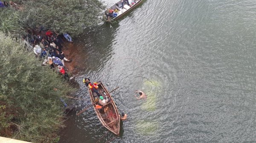
[[[0,47],[1,135],[15,129],[12,136],[20,140],[55,142],[54,132],[63,126],[60,97],[73,89],[21,42],[0,33]]]

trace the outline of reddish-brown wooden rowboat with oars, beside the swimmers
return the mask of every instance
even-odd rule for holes
[[[119,135],[119,131],[120,131],[120,117],[119,117],[119,112],[118,109],[116,108],[116,104],[113,101],[113,98],[110,94],[108,94],[108,89],[104,86],[104,84],[102,84],[101,81],[97,82],[98,84],[98,90],[99,93],[102,96],[108,96],[108,98],[110,99],[110,101],[102,106],[102,109],[96,109],[96,104],[100,105],[99,102],[96,102],[97,100],[100,100],[99,97],[97,96],[96,93],[94,93],[92,90],[90,90],[88,88],[89,91],[89,95],[90,95],[90,99],[91,102],[95,104],[93,104],[93,108],[96,112],[96,115],[99,118],[99,121],[102,123],[103,126],[105,126],[108,130],[110,130],[111,132],[113,132],[116,135]],[[106,111],[104,111],[104,109],[108,109]]]

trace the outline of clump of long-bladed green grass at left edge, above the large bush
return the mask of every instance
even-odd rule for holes
[[[12,8],[0,8],[0,31],[4,33],[11,32],[15,36],[22,34],[23,21],[20,17],[19,11]]]

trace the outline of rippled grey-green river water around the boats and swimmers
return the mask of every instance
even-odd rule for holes
[[[88,30],[70,55],[85,100],[59,143],[96,143],[108,132],[93,108],[76,116],[90,104],[84,76],[119,86],[112,95],[128,114],[120,137],[108,132],[98,143],[255,143],[255,15],[255,0],[145,0]]]

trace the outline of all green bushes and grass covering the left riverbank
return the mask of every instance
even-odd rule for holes
[[[64,127],[61,98],[67,100],[76,89],[42,66],[44,59],[35,57],[22,38],[47,30],[76,37],[102,21],[105,7],[99,0],[13,2],[17,5],[0,8],[0,136],[57,143]]]

